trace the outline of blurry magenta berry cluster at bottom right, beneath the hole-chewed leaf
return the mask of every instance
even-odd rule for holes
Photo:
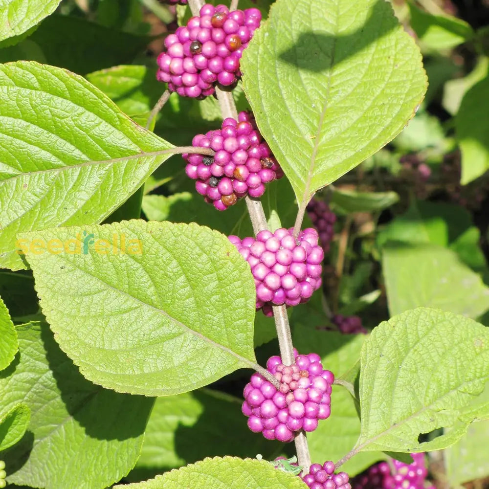
[[[428,470],[424,453],[411,453],[414,461],[404,464],[393,460],[393,469],[387,462],[379,462],[352,480],[353,489],[435,489],[425,487]]]

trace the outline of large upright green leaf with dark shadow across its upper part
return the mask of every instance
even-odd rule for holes
[[[276,1],[242,70],[258,127],[305,203],[400,133],[426,89],[418,48],[377,0]]]

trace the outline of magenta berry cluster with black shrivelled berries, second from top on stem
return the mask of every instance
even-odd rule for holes
[[[204,200],[220,211],[249,195],[261,197],[265,183],[282,178],[284,173],[267,143],[258,132],[253,114],[228,117],[222,128],[197,134],[193,146],[211,148],[212,156],[184,153],[185,173],[197,180],[195,188]]]

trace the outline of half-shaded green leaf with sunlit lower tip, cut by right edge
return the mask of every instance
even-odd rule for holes
[[[462,152],[462,185],[489,169],[489,76],[467,91],[455,117],[457,140]]]

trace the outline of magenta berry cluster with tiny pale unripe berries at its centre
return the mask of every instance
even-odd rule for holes
[[[244,387],[242,411],[248,427],[267,440],[291,442],[295,432],[314,431],[318,420],[331,414],[333,373],[323,369],[315,353],[298,355],[294,350],[294,357],[289,366],[280,356],[268,358],[267,370],[280,382],[279,389],[259,373]]]

